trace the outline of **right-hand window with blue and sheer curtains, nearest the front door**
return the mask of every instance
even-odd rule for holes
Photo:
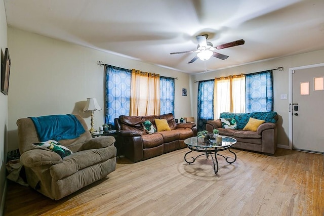
[[[207,120],[219,118],[222,112],[272,111],[272,70],[199,81],[197,101],[198,131],[206,128]]]

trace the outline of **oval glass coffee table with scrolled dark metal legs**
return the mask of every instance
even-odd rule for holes
[[[236,160],[236,154],[234,152],[232,152],[230,150],[230,148],[232,147],[232,145],[234,145],[236,143],[236,139],[232,138],[232,137],[226,137],[226,136],[222,136],[222,142],[220,143],[216,143],[216,140],[207,140],[204,143],[199,143],[197,141],[197,137],[190,137],[188,139],[184,140],[184,143],[187,144],[188,148],[190,149],[189,152],[187,152],[184,155],[184,160],[188,163],[191,164],[193,163],[198,157],[202,156],[202,155],[206,155],[206,157],[208,158],[209,155],[211,156],[212,160],[213,160],[213,164],[214,164],[214,172],[215,174],[217,174],[218,172],[218,160],[217,160],[217,155],[222,156],[227,163],[232,164],[233,162],[235,162]],[[218,152],[220,151],[225,151],[228,150],[229,152],[231,152],[234,155],[234,159],[231,157],[225,157],[221,154],[219,154]],[[196,151],[196,152],[203,152],[203,154],[200,154],[196,157],[191,157],[190,161],[187,160],[187,155],[190,154],[192,151]],[[215,157],[213,157],[213,154]],[[189,156],[188,156],[189,157]]]

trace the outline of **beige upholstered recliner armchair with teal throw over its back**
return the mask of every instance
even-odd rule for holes
[[[17,120],[20,160],[25,166],[27,182],[54,200],[106,177],[116,168],[115,139],[112,136],[92,138],[85,120],[74,116],[85,132],[74,139],[57,140],[72,151],[63,158],[49,149],[35,148],[33,144],[41,140],[31,118]]]

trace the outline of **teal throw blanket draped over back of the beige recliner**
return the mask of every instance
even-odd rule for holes
[[[29,117],[34,122],[41,142],[74,139],[85,133],[85,128],[74,115]]]

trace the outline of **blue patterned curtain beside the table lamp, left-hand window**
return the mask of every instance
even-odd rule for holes
[[[105,124],[114,125],[114,118],[130,114],[131,72],[106,65]]]

